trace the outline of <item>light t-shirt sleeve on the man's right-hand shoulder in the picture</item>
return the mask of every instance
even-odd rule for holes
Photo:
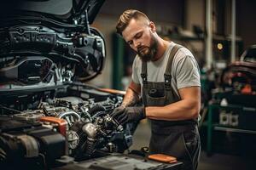
[[[180,59],[175,73],[177,89],[192,86],[201,87],[200,70],[194,57],[187,55]]]

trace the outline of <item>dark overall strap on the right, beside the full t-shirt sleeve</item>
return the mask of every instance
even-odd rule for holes
[[[169,55],[169,59],[168,59],[168,63],[167,63],[167,66],[166,66],[166,72],[165,72],[165,87],[166,87],[166,90],[170,90],[171,89],[171,81],[172,81],[172,61],[173,61],[173,58],[175,56],[175,54],[177,54],[177,50],[179,48],[183,48],[183,46],[181,45],[175,45],[173,48],[172,48],[172,51]]]

